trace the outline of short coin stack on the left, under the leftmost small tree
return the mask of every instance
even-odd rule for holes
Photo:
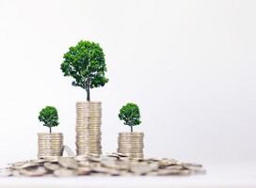
[[[63,134],[62,133],[38,133],[38,157],[62,156]]]

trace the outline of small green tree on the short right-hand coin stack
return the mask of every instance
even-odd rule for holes
[[[130,126],[131,132],[133,132],[133,127],[141,123],[139,119],[139,108],[136,103],[128,102],[126,105],[122,106],[120,109],[119,118],[120,120],[124,120],[123,124]]]

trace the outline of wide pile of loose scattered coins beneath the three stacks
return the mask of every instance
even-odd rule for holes
[[[59,157],[9,164],[0,176],[182,176],[205,173],[201,164],[181,163],[172,159],[131,159],[120,153]]]

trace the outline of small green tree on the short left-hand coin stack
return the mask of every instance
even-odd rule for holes
[[[43,126],[50,128],[50,133],[52,133],[52,127],[58,125],[56,108],[54,106],[46,106],[41,109],[39,119],[43,122]]]

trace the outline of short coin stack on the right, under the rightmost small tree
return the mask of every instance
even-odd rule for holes
[[[131,158],[143,158],[143,138],[144,133],[127,132],[119,134],[118,152],[125,154]]]

